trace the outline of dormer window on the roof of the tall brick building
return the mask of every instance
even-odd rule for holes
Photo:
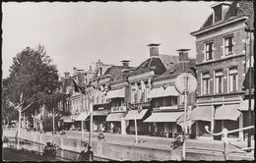
[[[219,2],[212,5],[213,8],[213,23],[224,21],[226,12],[228,11],[230,2]]]

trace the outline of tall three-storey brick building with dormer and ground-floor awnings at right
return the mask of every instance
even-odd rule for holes
[[[244,126],[246,118],[237,108],[245,93],[249,57],[245,27],[253,27],[252,6],[251,1],[217,3],[203,26],[191,33],[196,36],[197,51],[197,108],[191,115],[197,136],[206,135],[205,126],[214,133]],[[243,132],[230,136],[244,137]]]

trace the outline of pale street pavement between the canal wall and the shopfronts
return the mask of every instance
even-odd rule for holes
[[[81,138],[81,131],[65,131],[66,136]],[[94,133],[93,139],[96,140],[98,133]],[[51,134],[49,134],[51,135]],[[170,137],[158,137],[158,136],[138,136],[139,143],[135,142],[135,135],[118,135],[104,133],[105,141],[118,144],[130,144],[133,146],[145,146],[145,147],[156,147],[156,148],[170,148],[174,138]],[[89,132],[84,132],[83,140],[89,139]],[[102,141],[102,140],[101,140]],[[237,150],[247,146],[246,141],[238,141],[231,139],[231,144],[227,145],[228,150]],[[252,141],[254,147],[254,140]],[[186,147],[191,150],[209,150],[209,151],[224,151],[224,142],[221,140],[209,140],[209,139],[186,139]]]

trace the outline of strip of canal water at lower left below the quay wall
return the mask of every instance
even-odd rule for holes
[[[20,138],[20,142],[18,145],[18,138],[15,137],[8,137],[8,141],[5,142],[3,145],[4,147],[9,147],[9,148],[15,148],[15,149],[27,149],[30,151],[36,152],[36,154],[42,155],[43,153],[43,147],[45,144],[33,142],[27,139],[22,139]],[[56,153],[56,160],[60,161],[78,161],[79,158],[79,152],[76,151],[71,151],[71,150],[65,150],[61,148],[57,148],[57,153]],[[99,157],[94,157],[94,161],[109,161],[104,158],[99,158]]]

